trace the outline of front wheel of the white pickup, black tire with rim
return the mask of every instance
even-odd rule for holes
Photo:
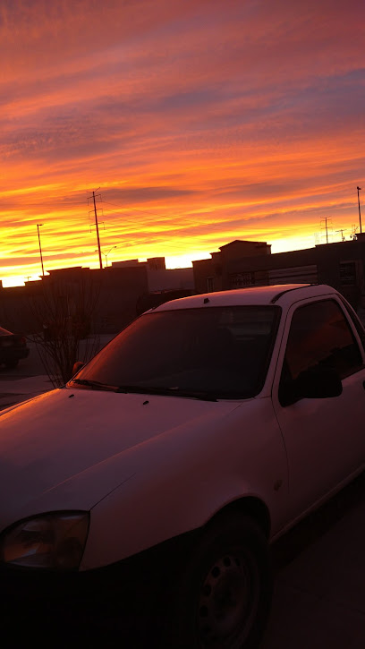
[[[249,517],[217,517],[199,538],[176,587],[166,646],[257,649],[272,598],[265,535]]]

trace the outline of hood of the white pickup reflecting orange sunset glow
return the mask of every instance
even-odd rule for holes
[[[216,423],[237,405],[64,388],[3,411],[0,530],[43,511],[92,508],[133,477],[135,453],[152,438]]]

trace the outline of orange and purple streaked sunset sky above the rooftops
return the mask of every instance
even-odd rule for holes
[[[0,48],[4,286],[37,224],[46,271],[98,268],[98,188],[104,264],[349,239],[358,185],[365,226],[362,0],[2,0]]]

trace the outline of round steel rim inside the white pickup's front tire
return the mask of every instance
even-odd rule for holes
[[[200,646],[220,649],[242,646],[258,600],[255,562],[246,552],[231,552],[217,560],[209,569],[199,594]]]

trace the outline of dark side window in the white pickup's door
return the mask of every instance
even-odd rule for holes
[[[327,368],[344,379],[361,367],[359,346],[339,304],[335,300],[306,304],[293,314],[279,399],[288,383],[303,372]]]

